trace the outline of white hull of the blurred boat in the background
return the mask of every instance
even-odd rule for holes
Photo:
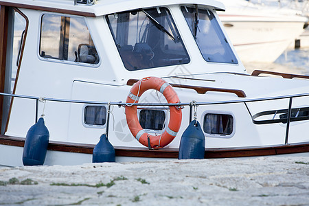
[[[304,32],[304,22],[231,20],[221,16],[242,62],[274,62]]]

